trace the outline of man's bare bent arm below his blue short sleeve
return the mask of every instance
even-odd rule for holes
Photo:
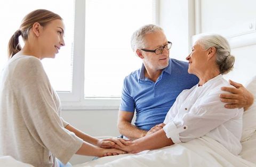
[[[134,112],[119,111],[117,127],[119,132],[129,139],[138,139],[146,136],[147,131],[134,126],[132,122]]]

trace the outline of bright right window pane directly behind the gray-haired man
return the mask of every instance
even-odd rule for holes
[[[141,67],[131,36],[154,23],[154,1],[87,0],[85,4],[85,97],[120,97],[123,79]]]

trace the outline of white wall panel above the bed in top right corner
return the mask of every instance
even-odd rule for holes
[[[255,0],[201,0],[201,31],[211,32],[239,27],[256,21]]]

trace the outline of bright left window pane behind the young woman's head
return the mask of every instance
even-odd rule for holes
[[[46,9],[59,14],[63,18],[66,26],[66,46],[60,49],[60,52],[57,54],[55,59],[44,59],[42,63],[53,88],[57,91],[71,92],[73,69],[72,47],[74,39],[74,1],[45,0],[37,1],[36,3],[33,0],[1,1],[0,6],[0,18],[2,22],[0,27],[1,70],[7,62],[7,45],[9,43],[9,39],[14,32],[19,29],[21,20],[26,14],[36,9]],[[23,42],[21,37],[20,43],[22,46]]]

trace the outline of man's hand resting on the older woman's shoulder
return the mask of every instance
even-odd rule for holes
[[[229,83],[235,88],[222,87],[221,90],[229,91],[232,94],[221,94],[221,102],[228,103],[226,108],[242,108],[244,111],[249,108],[254,101],[253,95],[242,84],[229,80]]]

